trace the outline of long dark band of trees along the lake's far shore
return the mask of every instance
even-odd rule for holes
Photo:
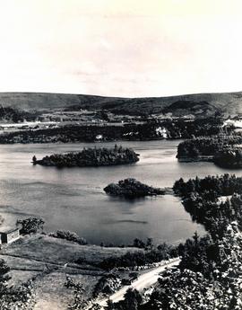
[[[217,135],[222,120],[148,120],[143,124],[108,125],[66,125],[59,128],[19,130],[0,136],[1,144],[9,143],[48,143],[48,142],[93,142],[97,136],[104,141],[152,140],[162,138],[191,138]],[[158,128],[166,130],[166,135]],[[228,130],[233,130],[230,128]]]

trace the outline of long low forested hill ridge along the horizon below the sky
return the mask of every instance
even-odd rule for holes
[[[79,110],[82,108],[103,109],[122,114],[171,112],[174,116],[193,114],[205,117],[214,115],[216,112],[226,115],[242,113],[242,92],[149,98],[115,98],[64,93],[0,93],[0,104],[20,110],[54,108]]]

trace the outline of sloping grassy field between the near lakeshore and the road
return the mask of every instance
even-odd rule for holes
[[[104,248],[97,245],[80,245],[48,235],[22,236],[0,251],[10,267],[10,285],[19,286],[34,279],[37,304],[35,310],[66,310],[73,300],[72,289],[65,288],[66,276],[81,282],[84,297],[89,298],[103,270],[92,264],[110,256],[120,256],[136,248]],[[81,258],[82,265],[73,261]]]

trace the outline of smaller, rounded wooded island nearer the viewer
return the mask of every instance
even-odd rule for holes
[[[104,191],[110,196],[121,196],[128,199],[165,194],[165,190],[143,184],[133,178],[121,180],[117,184],[111,183],[104,188]]]

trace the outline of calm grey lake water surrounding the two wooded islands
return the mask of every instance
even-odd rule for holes
[[[177,163],[177,144],[125,142],[123,146],[132,146],[141,155],[139,163],[64,169],[33,166],[31,157],[76,151],[87,144],[0,146],[0,213],[6,225],[14,225],[17,218],[39,215],[44,217],[47,231],[68,229],[93,244],[128,244],[135,237],[148,236],[157,243],[178,243],[195,230],[203,234],[203,227],[191,221],[176,197],[126,201],[109,198],[102,190],[109,182],[126,177],[165,187],[179,177],[229,172],[212,163]],[[242,175],[242,170],[237,173]]]

